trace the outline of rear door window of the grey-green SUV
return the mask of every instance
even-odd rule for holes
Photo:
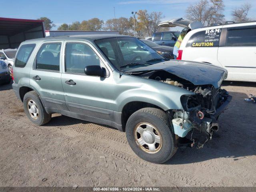
[[[60,71],[61,43],[43,44],[36,56],[36,69]]]

